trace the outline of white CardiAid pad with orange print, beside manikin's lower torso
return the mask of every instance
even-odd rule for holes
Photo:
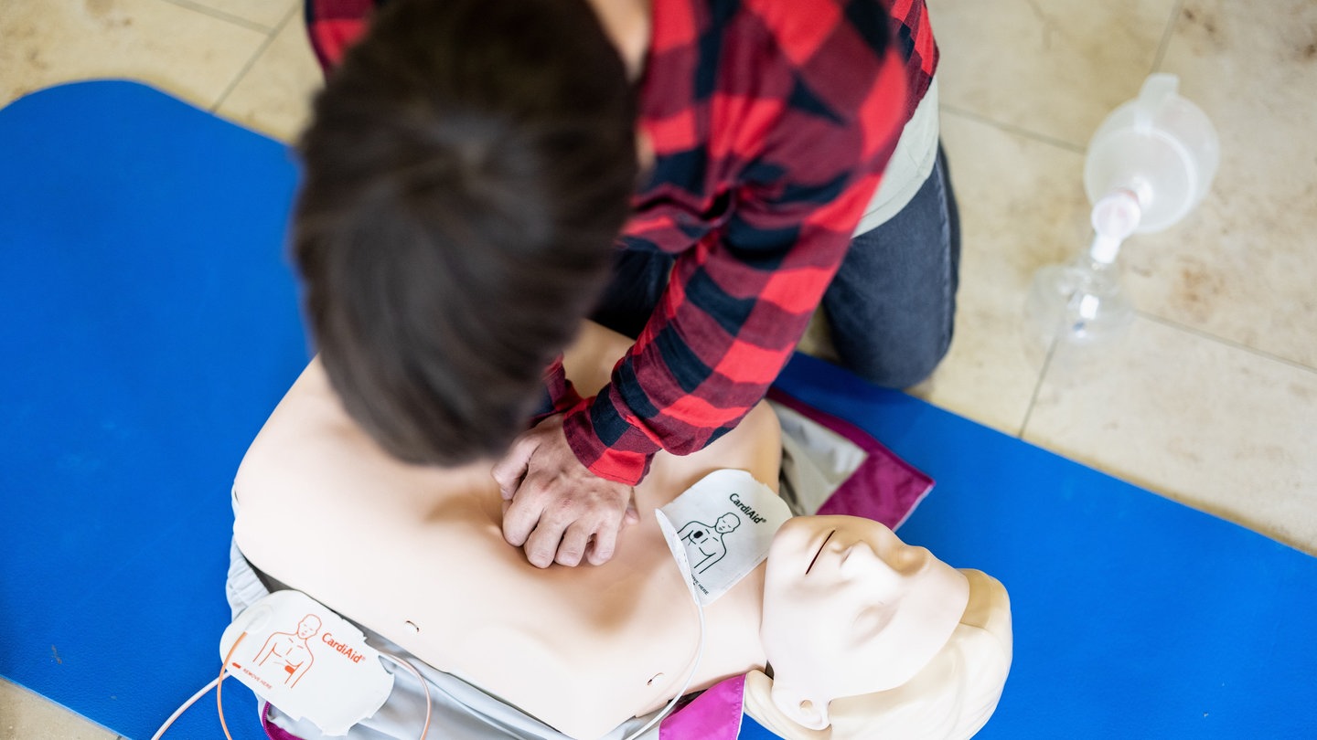
[[[233,678],[257,697],[327,735],[346,735],[394,689],[361,631],[302,591],[275,591],[244,610],[220,637],[224,656]]]

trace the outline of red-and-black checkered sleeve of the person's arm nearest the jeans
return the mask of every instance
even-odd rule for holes
[[[855,4],[830,7],[840,14]],[[886,34],[885,21],[873,33]],[[724,211],[680,254],[610,384],[565,419],[573,450],[603,478],[635,483],[657,450],[702,449],[764,398],[840,265],[906,120],[905,65],[890,45],[880,41],[886,53],[865,58],[874,40],[867,43],[863,29],[840,18],[803,29],[814,36],[802,36],[798,24],[772,30],[786,59],[780,79],[773,70],[759,70],[759,79],[773,93],[723,90],[709,103],[709,166],[738,166],[719,199]],[[689,244],[690,233],[689,224],[656,217],[628,237],[664,248]]]

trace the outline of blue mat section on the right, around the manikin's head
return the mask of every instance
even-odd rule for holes
[[[778,387],[932,475],[901,537],[1006,585],[977,737],[1317,737],[1317,558],[810,357]]]

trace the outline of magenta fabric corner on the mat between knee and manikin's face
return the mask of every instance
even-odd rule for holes
[[[896,529],[932,490],[932,478],[897,457],[855,424],[806,406],[777,388],[770,388],[768,398],[842,435],[868,453],[855,474],[823,502],[818,514],[864,516]]]

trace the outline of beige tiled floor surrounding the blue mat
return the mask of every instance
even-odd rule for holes
[[[964,258],[951,354],[913,392],[1317,553],[1317,3],[930,5]],[[298,11],[4,0],[0,105],[129,78],[290,140],[319,78]],[[1044,366],[1022,350],[1029,279],[1088,238],[1084,146],[1152,71],[1214,121],[1217,182],[1183,224],[1129,242],[1126,341]],[[113,733],[0,681],[0,739],[76,737]]]

